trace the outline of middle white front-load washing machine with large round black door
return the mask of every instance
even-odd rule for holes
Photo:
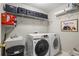
[[[49,56],[49,37],[47,34],[27,35],[26,46],[30,56]]]

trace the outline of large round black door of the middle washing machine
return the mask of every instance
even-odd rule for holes
[[[35,53],[37,56],[44,56],[49,50],[49,43],[45,39],[41,39],[35,46]]]

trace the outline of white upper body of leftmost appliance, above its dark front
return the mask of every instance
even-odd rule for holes
[[[6,39],[5,44],[6,44],[5,49],[10,48],[12,46],[16,46],[16,45],[25,46],[24,38],[22,36],[9,37],[8,39]]]

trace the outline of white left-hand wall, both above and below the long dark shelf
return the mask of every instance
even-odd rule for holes
[[[28,4],[23,4],[23,3],[11,4],[10,3],[10,5],[14,5],[17,7],[22,7],[22,8],[26,8],[29,10],[45,13],[41,9],[29,6]],[[27,18],[27,17],[23,17],[23,16],[22,17],[17,16],[16,20],[17,20],[17,26],[15,28],[8,27],[5,30],[3,27],[3,33],[4,33],[4,31],[6,31],[7,37],[14,36],[14,35],[25,36],[29,33],[34,33],[34,32],[39,32],[39,33],[48,32],[48,21]]]

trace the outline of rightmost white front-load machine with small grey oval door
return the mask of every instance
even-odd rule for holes
[[[57,55],[61,52],[61,42],[58,34],[49,33],[50,39],[50,56]]]

